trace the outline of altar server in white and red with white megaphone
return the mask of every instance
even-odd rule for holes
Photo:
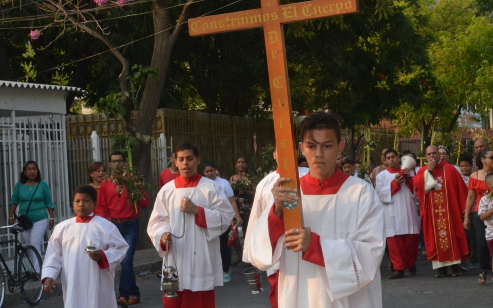
[[[401,167],[399,156],[394,149],[385,151],[387,169],[376,176],[375,189],[384,205],[385,236],[392,274],[389,279],[404,277],[409,269],[416,275],[416,257],[420,242],[420,225],[414,207],[413,184],[409,178],[409,169],[416,166],[412,156],[403,156]]]

